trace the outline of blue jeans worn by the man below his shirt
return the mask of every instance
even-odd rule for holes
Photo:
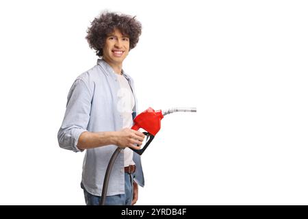
[[[84,188],[84,186],[81,186]],[[101,196],[94,196],[84,188],[84,199],[86,205],[99,205]],[[133,200],[133,174],[125,172],[125,194],[107,196],[105,205],[131,205]]]

